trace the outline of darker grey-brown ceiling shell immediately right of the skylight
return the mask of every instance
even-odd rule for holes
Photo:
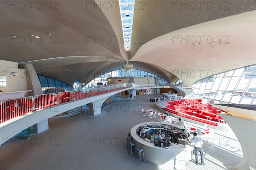
[[[254,0],[143,0],[134,10],[131,57],[146,42],[169,32],[256,9]],[[189,32],[187,32],[189,34]],[[139,38],[142,36],[143,38]],[[132,41],[134,42],[134,41]],[[144,42],[144,43],[139,43]]]

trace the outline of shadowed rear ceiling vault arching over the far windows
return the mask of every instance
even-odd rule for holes
[[[125,64],[120,59],[102,56],[63,57],[37,60],[29,63],[33,64],[37,74],[58,79],[71,86],[76,80],[87,84],[96,77],[122,69],[122,65]],[[168,82],[178,79],[175,75],[168,75],[169,71],[155,65],[145,62],[130,63],[134,65],[134,69],[140,69],[158,75]],[[47,67],[44,65],[47,65]],[[172,77],[172,79],[169,79],[169,77]]]

